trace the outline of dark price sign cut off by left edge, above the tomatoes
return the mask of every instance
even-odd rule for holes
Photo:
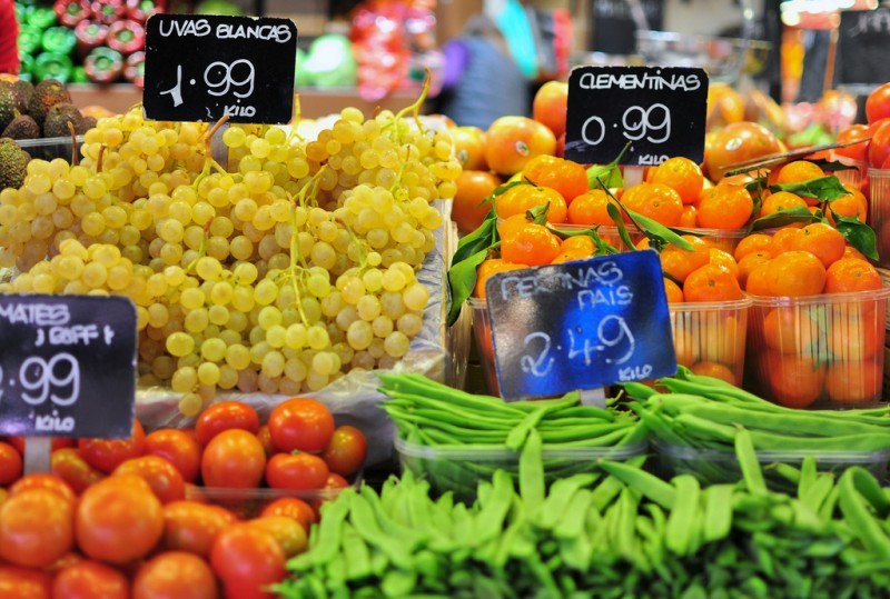
[[[0,435],[130,436],[136,308],[127,298],[0,294]]]

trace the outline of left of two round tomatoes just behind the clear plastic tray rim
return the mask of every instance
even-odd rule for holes
[[[258,487],[266,468],[266,451],[256,435],[224,430],[207,445],[201,457],[201,477],[208,487]]]

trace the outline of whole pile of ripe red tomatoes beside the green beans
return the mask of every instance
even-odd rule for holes
[[[224,401],[190,430],[137,420],[128,439],[56,439],[50,473],[21,477],[22,450],[0,441],[0,597],[251,599],[274,596],[366,440],[294,398],[265,425]],[[216,505],[235,489],[265,500]]]

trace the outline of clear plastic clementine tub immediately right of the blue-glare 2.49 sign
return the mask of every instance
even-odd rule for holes
[[[670,303],[676,363],[741,385],[751,300]]]

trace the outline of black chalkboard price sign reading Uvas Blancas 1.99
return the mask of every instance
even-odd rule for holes
[[[146,117],[286,123],[296,57],[289,19],[155,14],[146,24]]]

